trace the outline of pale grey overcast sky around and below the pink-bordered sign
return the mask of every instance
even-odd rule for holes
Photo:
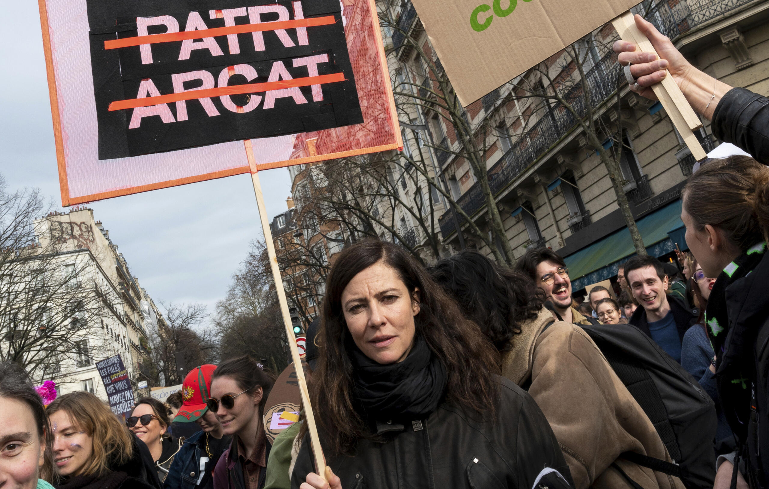
[[[5,2],[0,29],[0,173],[61,206],[37,2]],[[285,210],[286,168],[259,173],[268,218]],[[262,238],[249,175],[89,205],[157,303],[201,302],[213,312],[249,241]]]

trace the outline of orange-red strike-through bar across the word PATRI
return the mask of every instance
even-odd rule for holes
[[[128,48],[142,44],[157,44],[158,42],[185,41],[187,39],[213,38],[219,35],[244,34],[246,32],[276,31],[298,27],[315,27],[335,23],[334,15],[325,17],[299,18],[291,21],[263,22],[261,24],[232,25],[230,27],[215,27],[202,31],[167,32],[165,34],[138,35],[132,38],[111,39],[104,42],[105,49]]]

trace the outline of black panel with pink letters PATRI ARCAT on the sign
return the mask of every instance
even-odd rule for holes
[[[204,26],[209,29],[225,27],[224,16],[221,12],[217,14],[216,10],[241,8],[248,12],[249,7],[270,5],[270,8],[262,10],[282,8],[284,18],[280,20],[294,20],[300,6],[295,5],[298,3],[296,0],[277,3],[269,0],[252,0],[248,4],[243,2],[220,0],[214,4],[201,0],[88,0],[99,159],[125,158],[246,138],[318,131],[363,121],[338,0],[301,2],[304,18],[334,18],[334,22],[328,25],[306,27],[308,43],[305,45],[300,44],[300,29],[288,28],[282,32],[265,31],[258,36],[251,32],[236,34],[234,36],[237,36],[239,52],[235,53],[231,53],[232,46],[227,35],[208,38],[206,41],[200,38],[186,41],[186,46],[191,49],[185,50],[184,54],[182,48],[185,41],[151,44],[148,51],[145,48],[144,59],[138,45],[105,49],[105,41],[137,36],[137,18],[168,15],[172,18],[169,21],[171,25],[175,21],[178,31],[185,32],[188,28],[192,30],[188,23],[196,24],[198,29]],[[285,18],[286,12],[288,18]],[[276,12],[261,12],[259,17],[261,22],[278,19]],[[251,22],[251,16],[235,16],[234,21],[235,25],[245,25]],[[148,35],[167,31],[166,25],[150,25],[147,28]],[[256,37],[261,38],[261,42]],[[205,48],[201,48],[203,46]],[[234,50],[238,51],[238,48]],[[147,52],[151,53],[151,62],[147,62]],[[108,111],[110,103],[114,101],[151,96],[155,90],[155,95],[170,95],[175,91],[201,87],[205,82],[208,82],[205,88],[264,83],[270,81],[271,73],[278,72],[282,74],[278,79],[286,78],[286,74],[290,78],[307,78],[315,75],[313,70],[302,64],[301,58],[308,56],[325,56],[328,59],[327,62],[311,63],[317,69],[317,75],[342,73],[345,76],[343,82],[320,85],[322,99],[318,101],[314,100],[314,95],[318,98],[317,90],[314,93],[311,86],[302,86],[291,92],[297,95],[297,100],[293,96],[281,96],[275,98],[274,106],[270,108],[265,108],[267,94],[270,92],[262,91],[174,101],[166,105],[167,110],[158,105],[155,107],[163,108],[163,117],[136,117],[133,125],[131,120],[134,111],[141,109]],[[245,65],[239,68],[241,72],[245,70],[256,76],[248,80],[237,72],[231,75],[231,67],[238,65]],[[184,75],[191,72],[198,73]],[[181,83],[181,78],[190,79]],[[275,81],[275,75],[272,81]],[[149,91],[147,88],[150,88]],[[287,93],[281,92],[278,95]],[[252,110],[235,110],[236,106],[248,108],[254,105],[248,104],[255,99],[258,99],[258,104]],[[228,103],[230,100],[231,103]]]

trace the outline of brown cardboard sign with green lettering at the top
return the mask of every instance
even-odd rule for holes
[[[412,0],[459,101],[468,106],[638,0]]]

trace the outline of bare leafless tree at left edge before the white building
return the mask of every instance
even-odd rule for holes
[[[40,218],[49,211],[39,190],[8,191],[0,175],[0,361],[22,365],[36,381],[62,364],[90,364],[101,353],[89,333],[122,314],[90,251],[70,251],[75,264],[62,263],[64,248]]]

